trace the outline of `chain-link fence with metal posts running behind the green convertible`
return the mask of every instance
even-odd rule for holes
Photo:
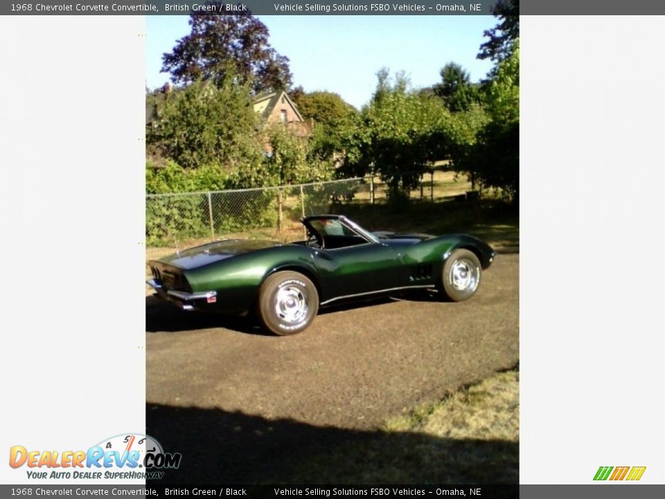
[[[461,194],[451,191],[450,185]],[[409,199],[459,197],[465,195],[465,189],[467,183],[458,184],[456,179],[453,182],[452,173],[438,180],[434,173],[427,173],[419,188],[409,193]],[[389,188],[378,177],[233,191],[150,194],[145,197],[146,245],[177,247],[193,240],[214,240],[255,229],[300,231],[299,220],[303,216],[340,213],[344,204],[378,204],[388,197]]]

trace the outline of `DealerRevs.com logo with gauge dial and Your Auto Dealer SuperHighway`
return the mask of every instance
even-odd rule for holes
[[[100,441],[87,450],[28,450],[13,446],[9,465],[26,467],[28,478],[160,480],[180,466],[180,453],[166,453],[148,435],[130,433]]]

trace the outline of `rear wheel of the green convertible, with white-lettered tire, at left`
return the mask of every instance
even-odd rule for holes
[[[316,286],[299,272],[275,272],[258,292],[258,318],[277,335],[300,333],[319,311]]]

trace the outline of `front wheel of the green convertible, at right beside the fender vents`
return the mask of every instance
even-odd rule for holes
[[[480,286],[481,274],[478,257],[468,249],[456,249],[443,265],[443,293],[452,301],[469,299]]]

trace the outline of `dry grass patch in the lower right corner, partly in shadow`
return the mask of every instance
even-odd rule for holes
[[[520,392],[517,367],[463,387],[441,402],[342,441],[278,483],[516,484]]]

